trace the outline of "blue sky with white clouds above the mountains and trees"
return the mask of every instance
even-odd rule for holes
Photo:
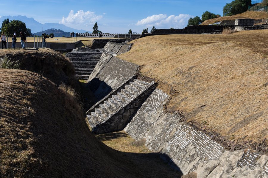
[[[205,11],[222,15],[231,0],[22,0],[0,2],[0,16],[26,15],[40,23],[62,23],[92,31],[95,22],[105,33],[141,33],[142,29],[183,28],[188,19]],[[14,6],[12,6],[14,4]],[[5,7],[5,8],[3,8]],[[27,24],[26,24],[27,25]]]

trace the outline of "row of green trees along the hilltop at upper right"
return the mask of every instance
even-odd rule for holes
[[[268,4],[268,0],[264,0],[263,4]],[[230,3],[227,3],[223,7],[223,16],[230,16],[230,15],[236,15],[236,14],[241,14],[243,12],[246,12],[248,10],[248,6],[252,5],[251,0],[234,0]],[[196,16],[194,18],[190,18],[188,20],[187,26],[190,25],[199,25],[205,20],[213,19],[213,18],[218,18],[221,17],[219,14],[214,14],[211,12],[204,12],[202,14],[202,18],[199,16]]]

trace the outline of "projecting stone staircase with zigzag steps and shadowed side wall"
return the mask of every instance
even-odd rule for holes
[[[155,82],[135,79],[121,92],[107,98],[95,108],[95,112],[88,112],[92,132],[99,134],[123,130],[155,87]]]

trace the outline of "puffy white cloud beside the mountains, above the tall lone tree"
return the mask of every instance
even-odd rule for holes
[[[77,13],[74,14],[74,11],[71,10],[69,12],[68,17],[63,17],[61,23],[62,24],[72,24],[72,25],[92,25],[97,20],[101,19],[102,15],[96,15],[95,12],[78,10]]]

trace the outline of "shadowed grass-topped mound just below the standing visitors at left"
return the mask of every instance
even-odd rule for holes
[[[74,77],[74,67],[63,55],[52,49],[9,49],[2,50],[0,58],[7,56],[11,61],[18,61],[19,68],[43,75],[56,85],[61,82],[74,88],[79,86]]]

